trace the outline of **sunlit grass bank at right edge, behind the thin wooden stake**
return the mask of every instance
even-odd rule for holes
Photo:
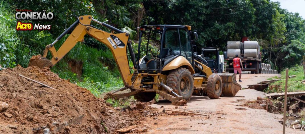
[[[265,92],[267,93],[285,92],[285,74],[286,74],[286,70],[282,71],[281,78],[283,80],[271,83]],[[296,75],[296,77],[288,79],[288,88],[287,88],[288,92],[305,91],[305,85],[302,83],[302,81],[304,80],[304,73],[302,66],[290,68],[288,75],[289,76]],[[276,76],[271,79],[279,79],[279,77]]]

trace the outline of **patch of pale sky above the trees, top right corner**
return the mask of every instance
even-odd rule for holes
[[[273,2],[281,2],[281,7],[289,12],[298,12],[305,19],[305,0],[271,0]]]

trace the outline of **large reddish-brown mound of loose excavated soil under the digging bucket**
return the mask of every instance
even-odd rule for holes
[[[0,133],[111,133],[138,124],[133,113],[107,106],[49,68],[17,66],[0,71]]]

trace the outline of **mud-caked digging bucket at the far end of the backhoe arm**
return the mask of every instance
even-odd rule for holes
[[[30,63],[28,67],[30,66],[36,66],[42,69],[44,67],[52,67],[53,64],[51,60],[43,59],[41,58],[41,55],[36,55],[36,56],[32,56],[32,58],[30,59]]]

